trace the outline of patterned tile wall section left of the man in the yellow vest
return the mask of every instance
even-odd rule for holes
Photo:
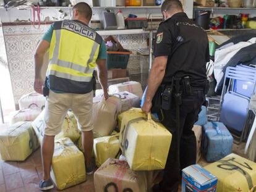
[[[40,29],[32,25],[3,27],[15,104],[23,94],[33,91],[33,52],[48,28],[49,25],[41,25]]]

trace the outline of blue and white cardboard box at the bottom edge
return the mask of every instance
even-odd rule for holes
[[[218,178],[200,165],[191,165],[182,170],[182,192],[216,192]]]

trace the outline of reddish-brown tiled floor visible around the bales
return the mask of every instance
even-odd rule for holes
[[[234,144],[233,152],[244,156],[245,143],[237,146]],[[200,159],[200,165],[205,166],[207,162]],[[0,162],[0,192],[34,192],[38,190],[38,182],[42,177],[41,154],[40,149],[36,150],[24,162]],[[54,188],[51,191],[58,191]],[[63,191],[87,191],[93,192],[93,175],[87,176],[87,182],[80,185],[67,188]]]

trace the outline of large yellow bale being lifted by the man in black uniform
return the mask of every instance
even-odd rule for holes
[[[136,111],[135,111],[136,112]],[[171,145],[171,133],[151,119],[122,117],[120,146],[132,170],[164,169]]]

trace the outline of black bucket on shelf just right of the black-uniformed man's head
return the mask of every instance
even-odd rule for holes
[[[210,28],[210,14],[210,10],[195,10],[195,23],[208,30]]]

